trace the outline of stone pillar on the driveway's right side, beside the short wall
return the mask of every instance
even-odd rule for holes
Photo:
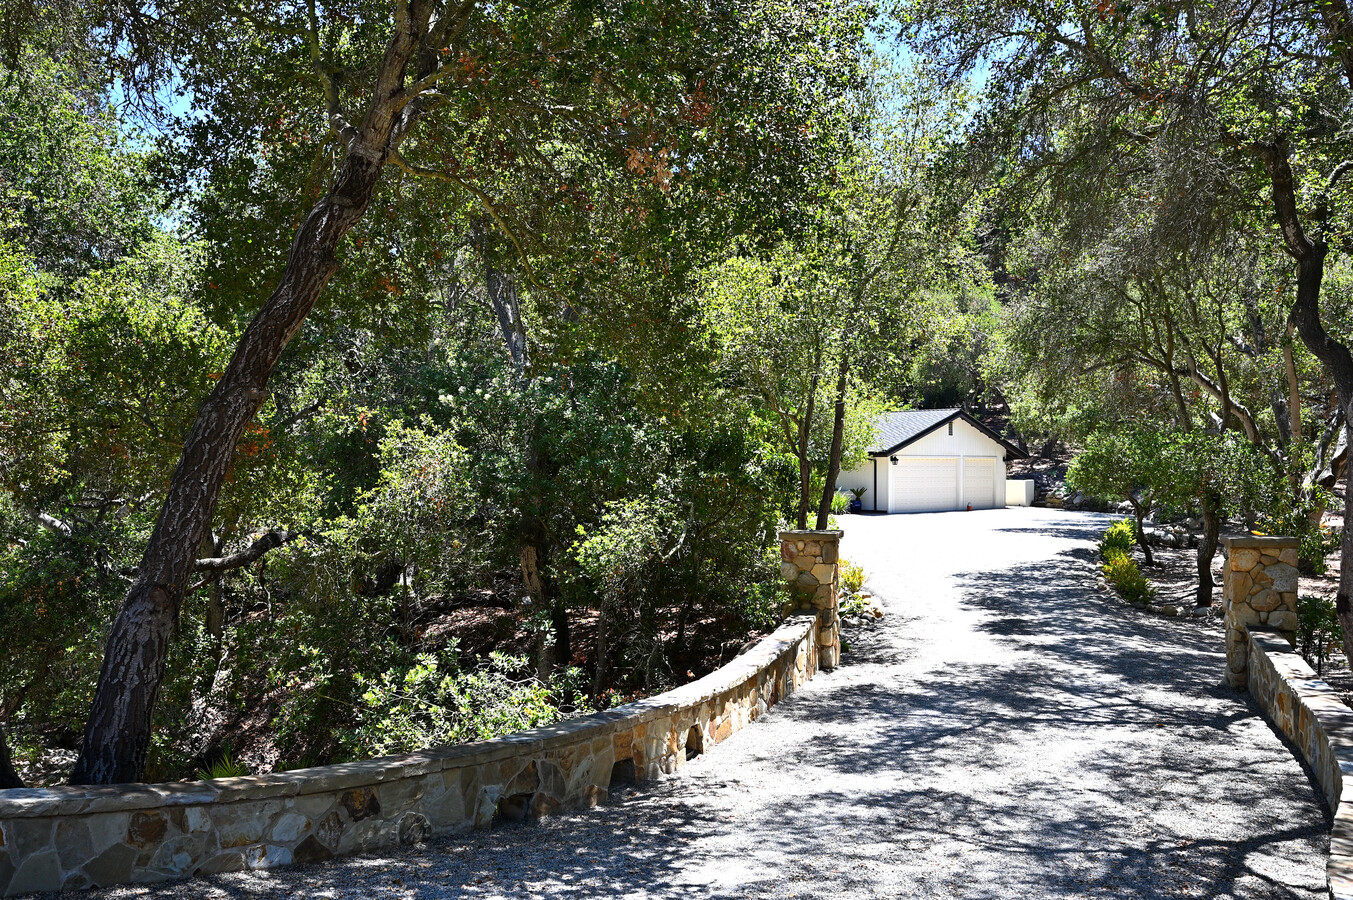
[[[1249,677],[1249,628],[1268,625],[1296,646],[1296,537],[1226,537],[1222,595],[1226,598],[1226,683]]]

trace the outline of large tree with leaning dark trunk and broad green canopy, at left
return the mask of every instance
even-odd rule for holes
[[[659,318],[662,298],[620,290],[620,276],[641,286],[687,265],[690,248],[786,222],[825,180],[848,137],[842,100],[865,24],[851,4],[630,0],[4,14],[14,66],[34,47],[78,60],[158,114],[169,183],[203,188],[191,215],[219,253],[214,314],[238,334],[112,624],[76,782],[142,775],[173,625],[192,572],[211,566],[200,548],[237,448],[340,269],[377,275],[384,296],[345,292],[356,302],[326,318],[388,319],[399,275],[434,269],[478,222],[492,235],[482,249],[541,309],[620,328]]]

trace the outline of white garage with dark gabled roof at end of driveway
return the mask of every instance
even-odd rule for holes
[[[931,513],[1005,506],[1005,463],[1024,456],[961,409],[885,413],[861,468],[838,490],[865,489],[866,512]]]

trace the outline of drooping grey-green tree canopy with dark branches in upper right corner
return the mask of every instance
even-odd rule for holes
[[[1174,284],[1165,295],[1151,277],[1120,284],[1131,283],[1137,298],[1184,302],[1185,313],[1207,300],[1200,283],[1224,284],[1208,263],[1220,249],[1262,246],[1268,267],[1288,273],[1287,313],[1334,384],[1348,426],[1353,355],[1338,337],[1341,305],[1322,292],[1348,249],[1353,198],[1344,3],[921,0],[898,15],[904,34],[950,73],[986,72],[988,104],[962,164],[988,183],[994,176],[1005,233],[1043,230],[1061,253],[1077,254],[1127,219],[1139,235],[1134,253],[1145,254],[1141,271],[1164,267]],[[1214,348],[1215,338],[1214,328]],[[1189,349],[1206,378],[1204,345]],[[1187,357],[1181,368],[1211,392]],[[1238,421],[1249,430],[1243,410],[1219,392],[1219,426]],[[1338,606],[1353,635],[1353,532],[1344,533]]]

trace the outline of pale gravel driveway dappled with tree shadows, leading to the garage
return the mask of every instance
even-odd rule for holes
[[[603,808],[124,897],[1325,896],[1327,819],[1215,631],[1093,589],[1105,517],[843,517],[888,616]]]

